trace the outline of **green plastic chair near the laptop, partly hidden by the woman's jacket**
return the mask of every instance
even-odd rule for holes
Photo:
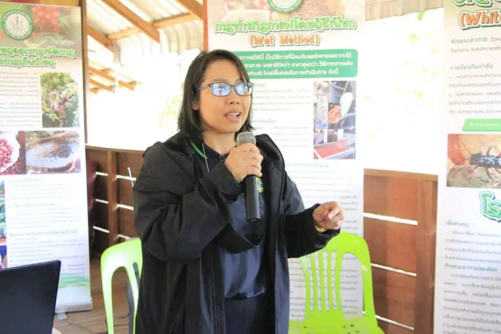
[[[135,332],[139,286],[136,284],[137,279],[133,266],[134,263],[136,263],[139,274],[141,274],[143,257],[141,252],[141,240],[139,239],[117,243],[106,248],[101,255],[101,281],[103,284],[103,299],[108,334],[114,334],[112,277],[115,271],[120,267],[124,267],[127,271],[132,296],[134,297],[134,327],[132,328],[132,332]]]

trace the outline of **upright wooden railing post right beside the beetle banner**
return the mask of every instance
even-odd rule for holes
[[[420,180],[417,194],[414,332],[433,334],[437,183]]]

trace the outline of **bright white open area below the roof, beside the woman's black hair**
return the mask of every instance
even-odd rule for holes
[[[176,118],[160,126],[162,112],[170,99],[181,95],[181,81],[199,50],[163,55],[142,64],[150,75],[134,91],[117,88],[100,91],[87,99],[87,142],[89,145],[144,150],[164,141],[176,131]],[[184,58],[184,60],[183,60]],[[143,75],[143,78],[145,76]],[[173,106],[177,115],[178,107]],[[171,112],[172,114],[172,112]]]

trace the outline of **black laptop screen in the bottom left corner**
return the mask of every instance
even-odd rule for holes
[[[0,270],[0,332],[51,334],[61,261]]]

